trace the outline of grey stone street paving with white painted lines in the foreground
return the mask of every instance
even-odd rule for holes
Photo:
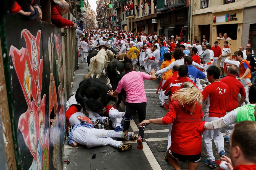
[[[73,91],[76,91],[78,84],[83,80],[83,76],[88,73],[88,65],[80,64],[80,69],[76,70],[73,81]],[[138,70],[138,69],[137,69]],[[144,69],[141,69],[144,71]],[[104,76],[101,79],[105,80]],[[145,80],[145,92],[147,96],[147,119],[163,117],[167,110],[159,106],[159,94],[156,94],[156,89],[160,83],[160,79],[155,81]],[[203,83],[203,82],[201,82]],[[122,111],[122,106],[119,108]],[[205,106],[203,106],[203,110]],[[138,125],[138,116],[134,115],[134,122]],[[109,128],[112,129],[112,128]],[[145,129],[144,149],[138,150],[137,143],[132,143],[133,149],[128,152],[120,152],[118,149],[111,146],[93,147],[88,149],[86,146],[78,146],[73,148],[65,141],[65,149],[63,153],[63,161],[70,160],[66,164],[63,162],[63,169],[173,169],[171,165],[164,160],[167,150],[168,138],[167,125],[150,124]],[[138,129],[137,129],[138,130]],[[130,127],[129,131],[138,133],[138,131]],[[225,133],[225,130],[221,131]],[[122,140],[122,139],[117,139]],[[136,142],[136,141],[125,141]],[[220,156],[213,143],[213,153],[216,160]],[[212,169],[205,165],[206,151],[202,142],[202,155],[197,169]],[[229,144],[225,143],[226,155],[229,156]],[[91,159],[92,155],[96,154],[96,159]],[[158,164],[157,164],[158,163]],[[187,163],[180,163],[181,169],[187,169]],[[215,168],[218,169],[218,168]]]

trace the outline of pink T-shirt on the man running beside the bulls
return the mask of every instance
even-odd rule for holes
[[[119,81],[115,91],[120,93],[124,89],[127,95],[126,102],[128,103],[147,102],[144,80],[150,80],[150,78],[151,75],[143,72],[129,72]]]

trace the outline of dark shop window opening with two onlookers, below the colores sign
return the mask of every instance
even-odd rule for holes
[[[228,34],[228,37],[230,37],[232,40],[236,40],[237,38],[237,24],[223,24],[223,25],[217,25],[217,34],[216,37],[218,37],[219,33]]]

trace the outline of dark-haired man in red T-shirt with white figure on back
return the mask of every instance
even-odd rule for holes
[[[229,102],[229,88],[227,84],[219,81],[219,76],[220,69],[218,67],[211,66],[207,69],[207,78],[211,84],[206,86],[202,91],[204,100],[207,101],[204,114],[204,121],[206,122],[211,122],[226,115],[226,105]],[[205,164],[211,168],[216,168],[212,151],[212,139],[214,139],[220,157],[225,154],[224,139],[220,130],[206,130],[203,133],[204,145],[207,152]]]

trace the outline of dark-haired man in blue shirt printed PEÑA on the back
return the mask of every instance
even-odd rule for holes
[[[191,57],[186,57],[184,59],[184,64],[188,67],[188,77],[191,81],[196,83],[196,79],[203,79],[205,78],[204,73],[200,70],[192,66],[193,59]]]

